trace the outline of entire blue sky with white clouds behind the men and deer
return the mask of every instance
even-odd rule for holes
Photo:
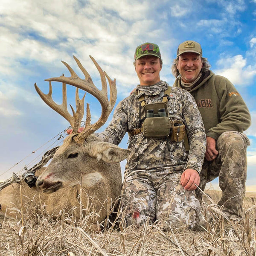
[[[116,79],[118,103],[138,84],[133,66],[138,45],[159,45],[160,76],[172,85],[172,61],[186,40],[201,44],[211,70],[235,85],[250,110],[246,185],[247,191],[256,190],[256,0],[1,0],[0,180],[31,167],[43,152],[62,142],[60,135],[67,136],[61,134],[69,127],[67,120],[49,108],[34,87],[37,83],[48,93],[44,79],[70,76],[61,61],[83,79],[75,55],[101,89],[99,72],[89,58],[93,56]],[[61,84],[52,85],[52,97],[61,104]],[[74,91],[67,85],[68,103],[73,106]],[[99,103],[90,95],[85,101],[96,122]],[[126,135],[120,146],[127,148],[127,141]],[[121,166],[124,170],[125,161]]]

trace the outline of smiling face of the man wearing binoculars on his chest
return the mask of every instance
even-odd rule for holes
[[[140,80],[140,86],[153,85],[160,81],[160,58],[146,55],[135,61],[135,71]]]

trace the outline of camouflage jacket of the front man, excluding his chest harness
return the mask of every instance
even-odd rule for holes
[[[154,86],[160,88],[159,93],[145,95],[146,104],[161,102],[168,84],[160,81],[152,87]],[[118,145],[126,132],[141,127],[145,113],[137,98],[138,96],[132,94],[119,102],[110,125],[99,134],[99,137]],[[171,142],[169,137],[148,139],[143,133],[140,133],[129,138],[128,149],[131,150],[131,154],[127,159],[127,170],[163,168],[170,169],[172,172],[182,171],[186,167],[186,169],[201,171],[206,149],[206,137],[201,114],[195,100],[186,90],[172,87],[167,104],[170,120],[180,120],[186,125],[190,143],[189,155],[185,150],[183,141],[180,143]]]

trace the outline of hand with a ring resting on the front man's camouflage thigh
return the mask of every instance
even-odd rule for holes
[[[200,183],[200,176],[196,170],[186,169],[180,178],[180,185],[183,186],[185,190],[195,190]],[[195,186],[195,184],[197,186]]]

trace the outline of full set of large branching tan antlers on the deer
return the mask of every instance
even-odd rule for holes
[[[99,129],[104,123],[107,121],[109,114],[111,113],[115,103],[116,103],[116,79],[113,81],[110,79],[108,74],[104,71],[102,71],[101,67],[99,64],[95,61],[95,59],[90,56],[92,59],[93,63],[97,67],[101,81],[102,81],[102,90],[99,90],[94,84],[93,81],[89,75],[89,73],[84,69],[82,66],[81,62],[73,56],[76,63],[78,64],[80,70],[83,72],[85,79],[80,79],[79,76],[75,73],[75,71],[64,61],[62,63],[67,67],[67,69],[70,71],[71,76],[70,77],[65,77],[65,76],[60,76],[60,77],[53,77],[49,79],[45,79],[45,81],[49,81],[49,93],[44,94],[41,92],[41,90],[37,87],[35,84],[35,89],[38,92],[38,94],[41,96],[41,98],[46,102],[47,105],[49,105],[50,108],[54,109],[56,112],[61,114],[65,119],[67,119],[68,122],[70,122],[70,125],[73,127],[73,133],[76,133],[79,124],[81,122],[81,119],[83,118],[84,115],[84,96],[82,99],[79,99],[78,96],[78,88],[90,93],[96,99],[99,100],[101,106],[102,106],[102,114],[97,122],[95,122],[93,125],[90,125],[90,108],[89,104],[87,104],[87,117],[86,117],[86,127],[84,130],[79,134],[76,139],[83,141],[86,137],[88,137],[90,134],[92,134],[94,131]],[[108,88],[107,88],[107,81],[106,77],[108,79],[109,87],[110,87],[110,100],[108,101]],[[62,82],[63,88],[62,88],[62,93],[63,93],[63,102],[61,105],[56,104],[52,100],[52,85],[51,81],[57,81],[57,82]],[[70,113],[67,111],[67,94],[66,94],[66,84],[73,85],[77,88],[76,90],[76,112],[71,106],[73,116],[70,115]]]

